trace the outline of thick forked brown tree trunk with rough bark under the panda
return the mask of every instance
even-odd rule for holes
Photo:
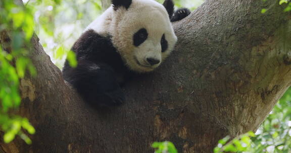
[[[21,80],[19,110],[36,128],[33,144],[17,138],[3,150],[153,152],[153,141],[170,140],[178,152],[212,152],[226,135],[255,131],[291,83],[291,16],[282,9],[270,0],[206,1],[174,24],[179,41],[166,62],[106,110],[80,99],[34,37],[38,75]]]

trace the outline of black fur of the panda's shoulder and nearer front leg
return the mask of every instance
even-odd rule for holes
[[[94,106],[122,104],[125,96],[120,88],[122,82],[118,82],[116,76],[131,71],[123,63],[110,38],[88,30],[75,42],[72,51],[76,53],[78,65],[72,68],[66,61],[64,79]]]

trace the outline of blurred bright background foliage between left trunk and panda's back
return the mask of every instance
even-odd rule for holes
[[[62,67],[65,59],[76,66],[76,60],[70,49],[82,30],[102,13],[100,0],[77,1],[31,1],[27,6],[34,6],[36,29],[44,51],[52,61]]]

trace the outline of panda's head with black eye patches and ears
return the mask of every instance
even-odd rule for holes
[[[112,0],[108,32],[131,70],[152,71],[174,49],[173,7],[172,0],[163,5],[153,0]]]

